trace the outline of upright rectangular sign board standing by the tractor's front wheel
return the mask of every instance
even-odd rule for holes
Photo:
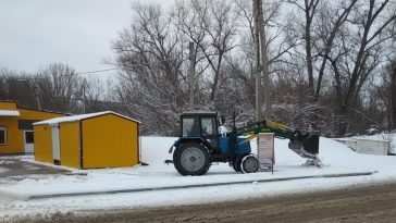
[[[260,133],[257,137],[257,153],[260,162],[260,171],[272,170],[275,162],[274,134]]]

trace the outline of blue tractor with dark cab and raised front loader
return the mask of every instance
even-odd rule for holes
[[[216,112],[185,112],[181,115],[181,136],[172,145],[172,162],[182,175],[203,175],[212,162],[228,162],[236,172],[253,173],[260,168],[251,153],[249,139],[259,133],[274,133],[279,138],[290,139],[288,147],[299,156],[317,159],[319,136],[301,134],[286,125],[261,121],[219,134]]]

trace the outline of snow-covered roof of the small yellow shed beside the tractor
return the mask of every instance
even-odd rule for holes
[[[89,114],[78,114],[78,115],[72,115],[72,116],[54,117],[54,119],[51,119],[51,120],[45,120],[45,121],[41,121],[41,122],[36,122],[33,125],[58,125],[59,123],[77,122],[77,121],[81,121],[81,120],[86,120],[86,119],[89,119],[89,117],[100,116],[100,115],[103,115],[103,114],[114,114],[116,116],[121,116],[121,117],[124,117],[124,119],[140,123],[139,121],[131,119],[128,116],[125,116],[125,115],[122,115],[122,114],[119,114],[119,113],[115,113],[115,112],[112,112],[112,111],[104,111],[104,112],[97,112],[97,113],[89,113]]]

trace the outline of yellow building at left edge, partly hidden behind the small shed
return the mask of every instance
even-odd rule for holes
[[[0,101],[0,154],[33,153],[33,123],[63,113],[20,108],[14,101]]]

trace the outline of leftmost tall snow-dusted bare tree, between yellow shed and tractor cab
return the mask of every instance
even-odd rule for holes
[[[123,71],[117,98],[125,113],[144,121],[144,133],[174,135],[177,114],[187,107],[188,50],[159,5],[135,2],[133,10],[134,23],[113,44]]]

